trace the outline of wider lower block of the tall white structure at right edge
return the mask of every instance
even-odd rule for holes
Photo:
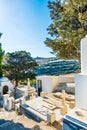
[[[87,110],[87,74],[77,74],[75,86],[76,107]]]

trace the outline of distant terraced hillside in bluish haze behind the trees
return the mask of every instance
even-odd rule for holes
[[[77,60],[58,60],[55,57],[37,57],[35,60],[39,64],[37,75],[60,75],[80,71],[80,64]]]

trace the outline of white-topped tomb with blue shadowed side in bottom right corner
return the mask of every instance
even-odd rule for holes
[[[74,108],[63,117],[62,130],[87,130],[87,111]]]

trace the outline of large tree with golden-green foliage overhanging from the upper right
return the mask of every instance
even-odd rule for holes
[[[87,0],[61,1],[48,2],[52,24],[45,44],[60,58],[79,59],[80,41],[87,34]]]

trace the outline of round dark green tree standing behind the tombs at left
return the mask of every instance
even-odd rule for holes
[[[26,51],[15,51],[6,54],[4,64],[5,75],[11,80],[16,81],[16,85],[21,80],[26,78],[34,79],[34,70],[37,68],[36,61],[31,57],[31,54]]]

